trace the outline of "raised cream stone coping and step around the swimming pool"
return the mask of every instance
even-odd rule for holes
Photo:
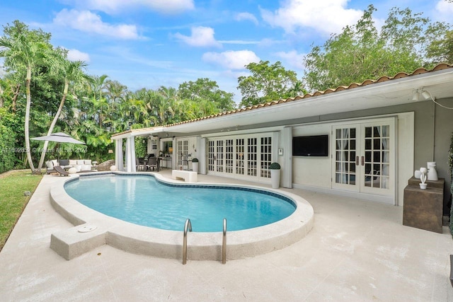
[[[236,260],[262,255],[292,245],[306,236],[314,224],[314,209],[304,198],[282,190],[253,185],[223,183],[185,183],[164,178],[159,173],[93,172],[83,177],[103,174],[154,175],[167,184],[219,185],[222,187],[248,187],[260,191],[275,192],[292,199],[296,210],[290,216],[275,223],[241,231],[227,231],[226,259]],[[114,248],[140,255],[182,259],[183,226],[181,231],[167,231],[101,214],[76,201],[64,190],[64,183],[79,178],[71,175],[62,178],[50,189],[52,207],[74,227],[52,233],[50,248],[66,260],[79,257],[98,246],[108,244]],[[221,221],[219,221],[221,223]],[[188,260],[222,260],[222,232],[188,233]]]

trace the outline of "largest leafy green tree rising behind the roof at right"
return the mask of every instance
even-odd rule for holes
[[[366,79],[412,72],[430,67],[427,46],[445,34],[444,23],[430,23],[409,8],[392,8],[381,30],[374,25],[374,6],[342,33],[331,35],[322,47],[314,46],[304,57],[304,82],[312,91],[323,91]]]

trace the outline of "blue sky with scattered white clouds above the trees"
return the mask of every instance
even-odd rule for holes
[[[88,74],[131,91],[209,78],[239,101],[244,65],[280,61],[301,78],[311,45],[355,24],[370,3],[378,25],[393,6],[453,23],[445,0],[6,0],[0,24],[17,19],[52,33],[52,44],[85,61]]]

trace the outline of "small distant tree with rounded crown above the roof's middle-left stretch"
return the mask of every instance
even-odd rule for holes
[[[219,89],[216,81],[210,79],[197,79],[180,84],[178,88],[180,98],[189,100],[207,100],[215,104],[220,111],[234,110],[235,103],[233,93],[227,93]]]

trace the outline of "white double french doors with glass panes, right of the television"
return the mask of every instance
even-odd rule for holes
[[[333,126],[332,136],[333,188],[394,195],[393,118]]]

